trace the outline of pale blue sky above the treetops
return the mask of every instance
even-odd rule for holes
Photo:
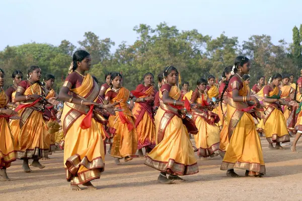
[[[117,47],[136,40],[135,25],[161,22],[212,37],[224,31],[240,42],[266,34],[274,43],[291,43],[292,28],[302,24],[301,8],[301,0],[2,0],[0,50],[33,41],[59,45],[64,39],[79,47],[88,31],[110,37]]]

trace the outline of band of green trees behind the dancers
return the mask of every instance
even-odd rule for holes
[[[122,42],[114,52],[115,43],[110,38],[101,39],[92,32],[86,32],[84,40],[78,42],[78,49],[91,54],[93,67],[90,73],[100,84],[104,82],[106,72],[122,72],[123,85],[134,89],[146,72],[157,77],[165,66],[173,65],[179,70],[182,81],[195,86],[198,78],[206,78],[209,74],[220,78],[223,69],[233,65],[240,54],[251,59],[251,85],[257,75],[270,77],[275,72],[298,75],[302,68],[302,25],[300,30],[293,28],[290,44],[283,40],[273,44],[270,36],[254,35],[240,45],[237,37],[225,36],[224,32],[212,38],[197,30],[179,31],[176,26],[166,23],[155,28],[140,24],[133,31],[137,34],[136,41],[133,44]],[[0,52],[0,68],[7,78],[5,87],[11,85],[14,70],[21,70],[26,77],[28,67],[38,65],[43,74],[55,75],[54,88],[58,90],[67,76],[75,50],[77,47],[67,40],[62,40],[57,47],[36,43],[6,47]]]

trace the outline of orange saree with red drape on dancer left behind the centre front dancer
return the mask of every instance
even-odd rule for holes
[[[140,84],[135,89],[136,92],[142,92],[143,95],[138,95],[136,98],[145,98],[147,96],[155,96],[155,89],[153,86],[145,87]],[[134,95],[134,94],[133,94]],[[135,128],[137,132],[137,149],[148,147],[153,149],[155,142],[155,124],[153,117],[152,102],[138,102],[135,103],[132,109],[132,114],[135,119]]]

